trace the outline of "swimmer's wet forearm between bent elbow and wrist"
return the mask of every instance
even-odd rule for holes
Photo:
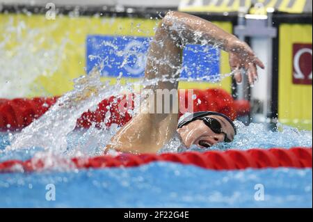
[[[216,45],[225,51],[231,50],[230,42],[238,40],[213,23],[186,13],[170,12],[162,19],[161,26],[172,34],[180,47],[186,44]]]

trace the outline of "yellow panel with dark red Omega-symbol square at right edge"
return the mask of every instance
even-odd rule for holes
[[[312,130],[312,25],[282,24],[279,32],[279,120]]]

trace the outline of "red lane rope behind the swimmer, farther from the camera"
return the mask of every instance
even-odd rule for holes
[[[185,97],[185,101],[188,100],[187,91],[185,93],[182,91],[179,92],[179,97]],[[246,115],[250,112],[248,101],[234,101],[232,96],[223,89],[194,89],[193,93],[196,95],[193,100],[193,111],[217,111],[229,116],[232,120],[236,116]],[[14,100],[0,99],[0,130],[17,130],[26,127],[33,120],[42,116],[57,99],[58,97],[16,98]],[[124,113],[120,113],[118,109],[122,100],[132,100],[130,107],[127,107],[125,103]],[[185,104],[187,103],[185,102]],[[93,122],[96,123],[96,127],[101,127],[108,111],[110,111],[110,118],[105,121],[106,127],[110,127],[113,123],[119,126],[125,125],[131,119],[131,115],[127,111],[129,109],[134,109],[134,94],[109,97],[102,100],[95,111],[86,111],[83,113],[77,120],[77,127],[88,128]],[[179,115],[182,114],[179,113]]]

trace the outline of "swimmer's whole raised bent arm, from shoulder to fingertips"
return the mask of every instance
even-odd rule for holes
[[[157,89],[177,89],[178,82],[175,79],[179,77],[182,49],[187,44],[214,44],[228,51],[236,81],[241,81],[240,68],[246,69],[250,84],[257,78],[257,65],[264,68],[250,47],[234,35],[200,17],[170,12],[159,23],[150,43],[145,68],[146,79],[162,80],[145,89],[154,92]],[[177,100],[177,95],[174,100]],[[150,109],[147,102],[141,108]],[[113,148],[122,152],[157,152],[175,134],[177,121],[178,112],[172,106],[169,113],[138,113],[113,136],[106,150]]]

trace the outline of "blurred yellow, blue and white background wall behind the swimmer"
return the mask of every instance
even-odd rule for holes
[[[47,3],[54,4],[56,17],[50,17],[52,8],[46,8]],[[144,54],[145,43],[168,10],[193,13],[238,35],[266,65],[255,88],[237,86],[229,76],[225,52],[196,48],[198,52],[193,54],[193,49],[187,50],[189,70],[184,77],[193,81],[181,81],[180,88],[223,88],[234,99],[248,100],[252,114],[262,117],[257,120],[279,118],[312,129],[311,0],[0,0],[0,97],[62,95],[72,89],[72,79],[90,70],[97,61],[95,56],[113,58],[106,60],[102,79],[114,84],[119,74],[114,68],[120,58],[114,51],[100,55],[92,42],[109,40],[121,51],[129,43],[139,42]],[[253,23],[262,19],[248,19],[248,14],[265,16],[266,22]],[[129,61],[131,68],[141,72],[136,77],[129,74],[134,69],[122,70],[122,81],[142,77],[143,64]],[[195,81],[205,74],[222,78],[215,84]]]

